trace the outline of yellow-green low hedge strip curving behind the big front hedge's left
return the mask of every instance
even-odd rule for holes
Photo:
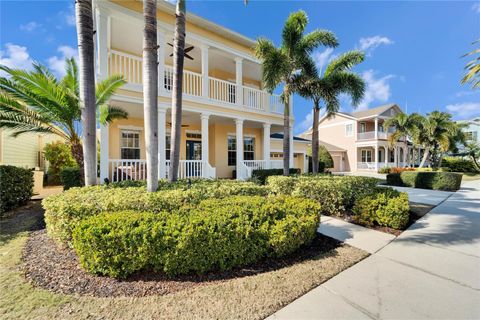
[[[225,198],[235,195],[268,194],[266,187],[250,182],[229,180],[198,181],[190,188],[184,182],[171,189],[161,185],[161,192],[146,192],[144,187],[114,188],[92,186],[72,188],[43,200],[47,232],[59,243],[71,244],[72,231],[83,219],[102,212],[178,210],[185,205],[196,205],[209,198]]]

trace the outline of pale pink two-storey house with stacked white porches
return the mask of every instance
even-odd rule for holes
[[[396,104],[357,111],[337,112],[319,121],[319,141],[333,158],[332,171],[378,170],[379,168],[403,167],[407,165],[412,146],[403,138],[389,148],[388,135],[383,122],[402,112]],[[312,130],[300,135],[311,139]]]

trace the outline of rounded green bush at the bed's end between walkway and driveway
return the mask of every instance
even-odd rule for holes
[[[409,220],[408,195],[392,188],[376,188],[359,199],[353,208],[354,220],[360,224],[404,229]]]

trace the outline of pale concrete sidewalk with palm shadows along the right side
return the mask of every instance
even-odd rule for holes
[[[270,319],[479,319],[480,181]]]

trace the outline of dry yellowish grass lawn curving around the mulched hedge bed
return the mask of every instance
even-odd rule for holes
[[[37,202],[0,221],[1,319],[263,319],[368,255],[340,245],[275,271],[167,295],[65,295],[34,287],[21,271],[28,230],[43,228],[42,218]]]

